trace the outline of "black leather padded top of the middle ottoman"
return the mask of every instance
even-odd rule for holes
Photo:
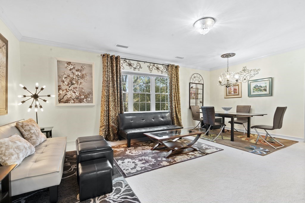
[[[106,140],[78,143],[79,154],[105,151],[108,149],[112,149],[112,148],[111,145],[109,145],[109,143]]]

